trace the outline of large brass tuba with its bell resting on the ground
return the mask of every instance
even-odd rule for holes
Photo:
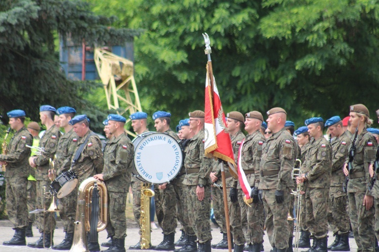
[[[87,252],[87,232],[90,230],[89,217],[92,192],[94,188],[98,188],[100,195],[100,211],[97,231],[103,231],[108,223],[108,191],[104,181],[94,179],[93,177],[85,179],[78,190],[78,200],[76,207],[76,221],[74,238],[72,242],[71,252]],[[150,222],[149,222],[150,223]]]

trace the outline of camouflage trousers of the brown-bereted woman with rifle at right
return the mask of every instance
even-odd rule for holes
[[[357,251],[375,251],[374,248],[374,213],[372,207],[366,210],[363,206],[363,198],[366,192],[348,193],[349,197],[349,216],[351,227],[353,229],[354,239],[357,243]]]

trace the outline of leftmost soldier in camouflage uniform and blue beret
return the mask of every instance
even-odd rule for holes
[[[26,198],[27,177],[29,175],[28,158],[33,137],[24,125],[25,112],[17,109],[7,113],[9,125],[15,135],[7,146],[7,154],[0,154],[0,164],[7,165],[5,177],[6,199],[9,220],[14,225],[15,234],[3,245],[25,245],[25,230],[28,225],[28,207]],[[3,150],[4,151],[4,150]]]

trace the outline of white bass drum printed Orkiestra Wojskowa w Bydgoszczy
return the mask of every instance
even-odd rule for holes
[[[175,178],[183,164],[180,144],[164,133],[146,132],[132,141],[133,176],[147,183],[162,184]]]

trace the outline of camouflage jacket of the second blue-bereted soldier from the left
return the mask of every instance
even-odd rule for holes
[[[44,148],[44,152],[40,156],[34,159],[34,163],[37,165],[35,172],[36,180],[50,181],[49,169],[50,159],[54,159],[54,155],[57,151],[58,141],[61,138],[59,129],[53,125],[49,130],[46,130],[41,140],[39,141],[39,147]]]

